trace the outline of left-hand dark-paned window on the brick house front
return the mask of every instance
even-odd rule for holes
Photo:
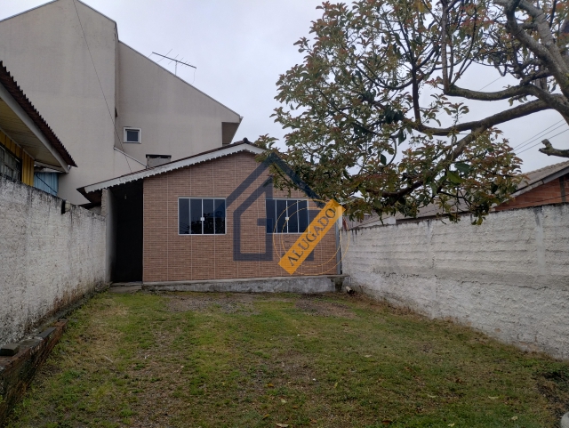
[[[225,199],[179,198],[180,235],[222,235],[225,233]]]

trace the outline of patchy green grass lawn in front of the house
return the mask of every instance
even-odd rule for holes
[[[8,427],[552,427],[569,365],[346,295],[97,295]]]

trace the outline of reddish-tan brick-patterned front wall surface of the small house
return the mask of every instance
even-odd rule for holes
[[[282,277],[289,274],[279,265],[280,257],[300,236],[272,235],[273,258],[252,261],[234,260],[234,218],[237,207],[253,196],[254,201],[241,216],[241,252],[264,254],[267,195],[262,184],[268,170],[251,181],[246,190],[227,207],[225,235],[179,235],[178,198],[228,198],[259,166],[251,153],[236,153],[203,164],[144,179],[144,282],[204,279],[244,279]],[[269,184],[270,186],[270,184]],[[260,190],[259,190],[260,189]],[[273,190],[273,198],[301,198],[300,191]],[[309,209],[317,210],[314,203]],[[336,274],[336,237],[334,229],[314,250],[314,261],[306,261],[296,275]]]

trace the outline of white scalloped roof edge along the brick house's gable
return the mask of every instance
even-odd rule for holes
[[[176,169],[184,168],[186,166],[201,164],[202,162],[207,162],[208,160],[217,159],[218,157],[233,155],[242,151],[252,153],[253,155],[260,155],[265,150],[260,149],[259,147],[255,146],[250,142],[239,141],[234,144],[228,144],[227,146],[222,146],[218,149],[212,149],[204,151],[203,153],[198,153],[197,155],[194,156],[184,157],[182,159],[174,160],[172,162],[163,164],[161,166],[155,166],[154,168],[144,169],[142,171],[137,171],[131,174],[124,174],[121,175],[120,177],[116,177],[107,180],[105,182],[97,182],[94,184],[90,184],[88,186],[84,186],[77,190],[81,192],[81,194],[83,194],[85,198],[87,198],[86,195],[98,190],[108,189],[109,187],[118,186],[120,184],[124,184],[127,182],[136,182],[137,180],[151,177],[152,175],[169,173],[170,171],[174,171]]]

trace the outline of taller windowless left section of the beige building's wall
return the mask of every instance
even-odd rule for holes
[[[77,187],[115,173],[113,121],[103,98],[113,109],[115,39],[114,21],[72,0],[0,22],[0,59],[76,161],[60,180],[61,197],[74,203],[84,202]]]

